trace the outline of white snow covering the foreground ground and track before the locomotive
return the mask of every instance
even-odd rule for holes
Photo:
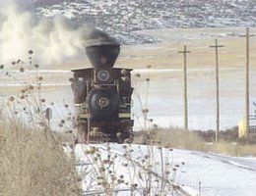
[[[103,185],[116,195],[131,191],[143,195],[147,187],[167,195],[182,195],[181,189],[204,196],[254,196],[256,192],[256,158],[114,143],[78,144],[75,154],[84,195],[103,192]]]

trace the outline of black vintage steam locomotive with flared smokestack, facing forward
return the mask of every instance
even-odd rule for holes
[[[94,42],[86,53],[93,68],[72,70],[78,142],[131,140],[132,70],[113,68],[120,44]]]

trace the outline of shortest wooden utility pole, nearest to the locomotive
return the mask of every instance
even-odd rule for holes
[[[178,53],[183,54],[184,66],[183,66],[183,74],[184,74],[184,128],[188,130],[188,99],[187,99],[187,53],[191,53],[191,51],[187,50],[187,46],[184,46],[183,51],[178,51]]]

